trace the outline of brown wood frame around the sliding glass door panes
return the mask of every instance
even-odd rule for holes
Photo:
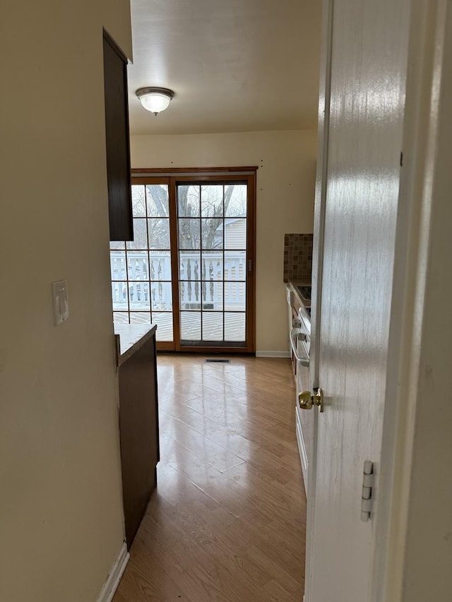
[[[172,268],[173,342],[158,342],[158,351],[184,351],[189,353],[254,354],[256,352],[256,171],[257,167],[194,167],[131,169],[133,184],[167,183],[169,194],[169,229]],[[246,271],[246,347],[215,347],[181,345],[179,306],[179,255],[177,248],[177,198],[178,183],[183,182],[246,181],[246,260],[251,270]],[[174,252],[175,251],[175,252]],[[251,263],[249,263],[251,262]],[[248,267],[247,266],[247,267]],[[223,311],[224,313],[224,311]]]

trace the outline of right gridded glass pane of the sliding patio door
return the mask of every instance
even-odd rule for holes
[[[177,222],[181,347],[246,347],[246,183],[178,183]]]

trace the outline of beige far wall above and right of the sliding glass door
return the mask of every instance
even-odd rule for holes
[[[312,231],[316,131],[132,136],[131,162],[143,168],[258,166],[256,349],[287,351],[284,234]]]

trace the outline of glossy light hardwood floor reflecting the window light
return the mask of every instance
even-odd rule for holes
[[[157,356],[157,490],[114,602],[302,602],[290,361]]]

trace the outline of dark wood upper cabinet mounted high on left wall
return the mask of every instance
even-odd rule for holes
[[[105,133],[111,241],[133,240],[127,59],[104,32]]]

